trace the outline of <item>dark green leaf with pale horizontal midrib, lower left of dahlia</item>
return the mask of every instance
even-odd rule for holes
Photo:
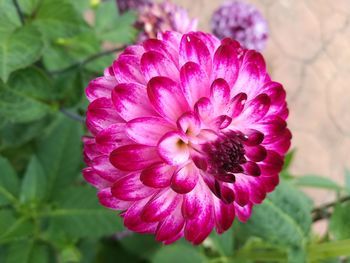
[[[91,187],[63,189],[53,201],[57,209],[41,215],[50,219],[48,235],[52,239],[59,238],[62,232],[69,237],[97,238],[123,229],[121,218],[99,204],[96,190]]]

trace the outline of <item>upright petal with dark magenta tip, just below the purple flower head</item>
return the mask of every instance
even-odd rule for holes
[[[238,76],[238,54],[232,45],[221,45],[215,52],[214,78],[225,79],[229,87],[233,87]]]

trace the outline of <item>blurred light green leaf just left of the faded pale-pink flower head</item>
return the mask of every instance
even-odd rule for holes
[[[135,21],[135,13],[127,12],[118,15],[114,1],[104,2],[96,11],[96,34],[103,41],[131,43],[137,35],[137,30],[133,26]]]

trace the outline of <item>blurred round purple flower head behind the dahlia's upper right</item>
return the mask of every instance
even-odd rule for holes
[[[261,51],[268,38],[268,25],[262,14],[253,5],[231,1],[224,3],[211,18],[214,35],[231,37],[245,48]]]

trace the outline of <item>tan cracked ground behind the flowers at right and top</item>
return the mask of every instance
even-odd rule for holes
[[[220,0],[173,0],[209,30]],[[297,155],[295,174],[319,174],[343,182],[350,167],[350,0],[250,0],[270,26],[265,58],[284,84]],[[307,190],[316,203],[331,193]]]

